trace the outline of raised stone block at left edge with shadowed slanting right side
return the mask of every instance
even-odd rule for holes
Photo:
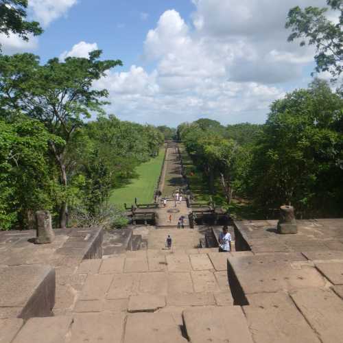
[[[49,265],[0,269],[0,308],[16,307],[19,318],[51,316],[55,303],[55,270]]]

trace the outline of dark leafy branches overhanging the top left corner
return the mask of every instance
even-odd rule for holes
[[[6,36],[17,34],[23,40],[29,40],[29,34],[41,34],[39,23],[25,21],[26,9],[27,0],[0,0],[0,32]]]

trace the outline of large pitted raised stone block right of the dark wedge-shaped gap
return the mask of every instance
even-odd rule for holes
[[[265,262],[266,260],[266,262]],[[275,254],[274,260],[278,261]],[[244,294],[279,292],[304,287],[324,287],[325,280],[311,265],[305,262],[276,263],[268,256],[229,257],[228,279],[231,289],[237,289],[237,283]]]

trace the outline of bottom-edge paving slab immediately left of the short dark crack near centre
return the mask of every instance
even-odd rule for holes
[[[124,343],[186,343],[171,314],[130,314]]]

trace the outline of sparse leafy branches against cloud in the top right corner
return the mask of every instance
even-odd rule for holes
[[[327,0],[327,5],[340,12],[338,23],[333,23],[325,16],[328,8],[310,6],[301,10],[296,6],[289,10],[286,28],[292,29],[289,41],[301,38],[301,46],[307,42],[316,47],[316,71],[329,71],[334,80],[343,70],[343,1]]]

